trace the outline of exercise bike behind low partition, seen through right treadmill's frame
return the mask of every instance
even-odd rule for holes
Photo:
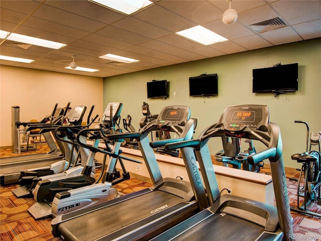
[[[223,166],[229,167],[231,165],[236,169],[243,169],[245,171],[260,172],[260,169],[264,166],[264,162],[260,161],[249,164],[247,158],[256,153],[253,141],[250,139],[245,140],[249,144],[249,148],[244,152],[241,152],[240,139],[235,137],[222,137],[223,150],[215,154],[216,161],[222,162]]]

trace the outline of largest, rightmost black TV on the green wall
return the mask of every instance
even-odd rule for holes
[[[297,63],[253,69],[253,93],[295,91],[297,86]]]

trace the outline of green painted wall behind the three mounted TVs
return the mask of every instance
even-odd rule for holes
[[[279,62],[299,64],[298,91],[277,97],[270,93],[252,93],[252,69]],[[290,156],[305,150],[306,129],[302,124],[294,124],[294,120],[308,122],[312,132],[321,131],[320,69],[321,39],[318,38],[104,78],[103,106],[108,102],[122,102],[122,118],[130,114],[132,125],[138,130],[143,117],[143,101],[149,104],[153,114],[167,105],[189,105],[192,117],[198,118],[197,137],[206,127],[218,121],[228,105],[266,104],[271,121],[280,126],[285,166],[296,168],[300,165]],[[189,77],[205,72],[218,74],[219,95],[211,98],[190,97]],[[170,82],[168,99],[147,99],[146,82],[153,79],[167,79]],[[222,148],[220,140],[210,141],[209,146],[213,155]],[[255,147],[258,150],[263,148],[259,143],[255,143]],[[242,150],[245,149],[247,145],[242,144]]]

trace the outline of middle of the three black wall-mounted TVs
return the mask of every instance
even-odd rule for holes
[[[216,96],[218,95],[217,74],[204,74],[190,77],[190,96]]]

